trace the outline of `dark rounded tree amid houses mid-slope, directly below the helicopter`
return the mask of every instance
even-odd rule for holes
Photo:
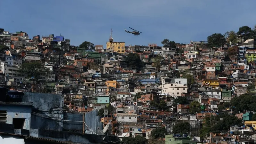
[[[143,63],[140,60],[140,55],[138,53],[129,53],[126,58],[127,67],[137,68],[140,70],[143,67]]]

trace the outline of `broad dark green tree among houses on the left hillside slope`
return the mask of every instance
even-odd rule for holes
[[[48,77],[51,71],[49,68],[45,68],[40,61],[32,61],[23,63],[20,73],[26,74],[26,78],[33,77],[37,81],[41,77]]]

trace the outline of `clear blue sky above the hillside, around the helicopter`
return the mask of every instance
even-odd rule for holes
[[[256,24],[255,0],[0,0],[0,28],[35,35],[63,35],[71,45],[83,41],[106,47],[114,41],[128,46],[162,45],[206,40],[213,33],[238,31]],[[124,32],[132,27],[142,32]]]

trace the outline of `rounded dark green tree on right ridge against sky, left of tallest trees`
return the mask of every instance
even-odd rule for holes
[[[210,47],[220,47],[226,43],[226,38],[221,34],[212,34],[207,37],[207,43]]]

